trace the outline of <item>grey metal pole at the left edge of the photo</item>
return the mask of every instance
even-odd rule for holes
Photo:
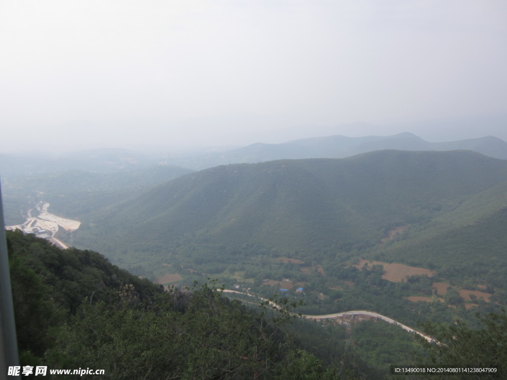
[[[5,237],[4,207],[2,188],[0,186],[0,379],[13,379],[19,376],[8,376],[10,366],[18,366],[18,341],[14,322],[12,303],[11,275]]]

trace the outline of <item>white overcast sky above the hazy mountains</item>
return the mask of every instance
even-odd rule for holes
[[[506,70],[505,0],[4,0],[0,152],[498,115]]]

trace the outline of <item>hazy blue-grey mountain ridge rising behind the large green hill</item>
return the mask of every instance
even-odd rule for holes
[[[507,160],[507,142],[485,136],[474,139],[428,142],[403,132],[391,136],[347,137],[342,135],[312,137],[280,144],[255,143],[238,149],[213,153],[192,162],[176,161],[176,165],[205,169],[213,166],[258,163],[283,159],[345,158],[375,150],[472,150],[485,156]]]

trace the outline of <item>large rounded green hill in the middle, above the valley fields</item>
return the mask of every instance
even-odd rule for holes
[[[506,161],[470,151],[220,166],[90,214],[71,243],[131,263],[169,255],[220,261],[259,249],[334,256],[372,249],[394,226],[438,220],[473,197],[477,203],[506,180]],[[487,204],[503,205],[489,197]]]

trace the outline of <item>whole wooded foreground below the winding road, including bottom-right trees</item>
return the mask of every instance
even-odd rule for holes
[[[428,323],[445,344],[421,341],[429,355],[420,346],[404,361],[396,346],[412,351],[417,342],[399,327],[360,322],[347,338],[340,325],[294,319],[287,298],[275,299],[278,308],[247,308],[213,281],[164,291],[96,252],[62,250],[19,231],[7,232],[7,245],[22,366],[104,369],[98,378],[114,379],[288,380],[384,378],[386,357],[500,370],[507,362],[505,313],[482,317],[479,330]]]

